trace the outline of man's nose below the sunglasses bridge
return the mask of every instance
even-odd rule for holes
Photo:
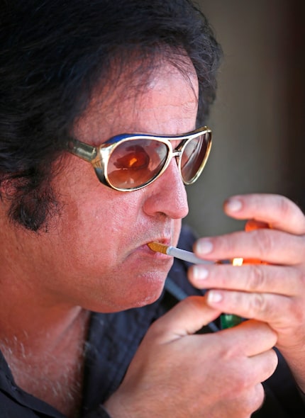
[[[162,176],[143,191],[146,193],[143,210],[147,215],[163,214],[172,219],[182,219],[189,213],[187,192],[175,158]]]

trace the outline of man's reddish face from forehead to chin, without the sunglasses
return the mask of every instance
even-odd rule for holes
[[[187,80],[163,64],[143,93],[128,97],[128,80],[126,95],[119,99],[116,89],[106,101],[96,93],[74,135],[100,145],[124,132],[172,135],[193,130],[198,87],[194,69],[189,71]],[[104,312],[153,303],[172,258],[153,253],[147,243],[176,245],[188,212],[175,159],[154,183],[128,193],[102,185],[91,164],[72,154],[62,164],[54,181],[62,203],[60,220],[48,234],[33,239],[37,288],[50,301]]]

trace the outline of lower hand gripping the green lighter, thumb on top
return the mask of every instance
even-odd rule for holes
[[[248,418],[277,366],[275,332],[248,321],[194,334],[219,315],[204,297],[183,300],[148,330],[105,407],[113,418]]]

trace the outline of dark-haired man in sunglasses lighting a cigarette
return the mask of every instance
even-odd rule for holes
[[[304,414],[298,208],[228,200],[253,231],[196,254],[268,265],[197,265],[194,287],[147,245],[194,243],[184,185],[209,156],[220,56],[205,18],[187,0],[16,0],[1,55],[1,417],[243,418],[265,396],[257,416]],[[221,312],[252,319],[211,332]],[[294,377],[280,357],[264,391],[275,345]]]

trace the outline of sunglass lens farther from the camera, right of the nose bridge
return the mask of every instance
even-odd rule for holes
[[[192,183],[201,173],[209,147],[209,132],[187,143],[182,154],[181,173],[185,183]]]

